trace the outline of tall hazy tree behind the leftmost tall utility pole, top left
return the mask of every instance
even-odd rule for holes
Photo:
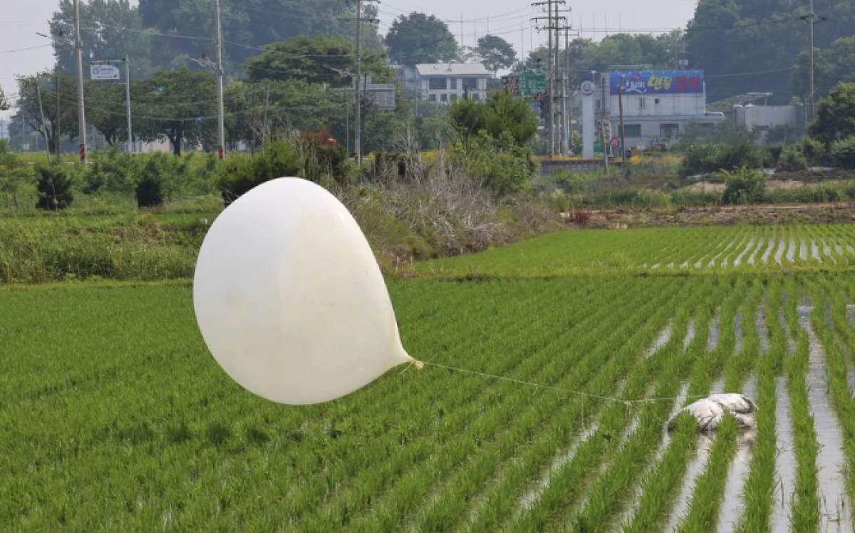
[[[143,29],[139,9],[128,0],[89,0],[80,3],[80,35],[83,61],[131,58],[131,77],[140,79],[151,72],[151,36]],[[56,68],[62,73],[77,72],[74,53],[74,3],[62,0],[50,19],[55,36]]]

